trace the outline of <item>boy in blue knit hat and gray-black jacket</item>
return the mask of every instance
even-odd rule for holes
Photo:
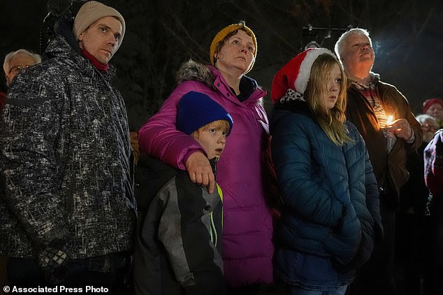
[[[178,103],[177,129],[203,147],[214,173],[232,127],[231,115],[206,94],[188,92]],[[136,182],[136,294],[224,294],[220,187],[209,194],[186,171],[145,155]]]

